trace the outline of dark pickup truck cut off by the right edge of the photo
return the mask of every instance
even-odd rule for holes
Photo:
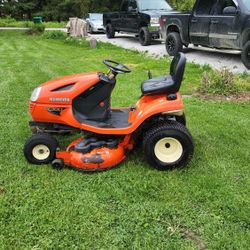
[[[160,26],[171,56],[189,44],[240,50],[250,69],[250,0],[197,0],[191,13],[163,15]]]

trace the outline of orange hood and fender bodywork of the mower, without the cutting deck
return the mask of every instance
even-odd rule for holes
[[[85,90],[100,81],[98,72],[67,76],[44,83],[37,102],[30,102],[30,114],[33,121],[46,123],[59,123],[77,129],[94,132],[97,134],[129,135],[149,117],[159,113],[180,111],[183,109],[181,95],[177,93],[177,99],[167,100],[166,94],[143,96],[131,109],[126,128],[98,128],[79,123],[73,114],[72,100]],[[52,91],[65,85],[74,84],[67,91]],[[58,100],[52,101],[52,100]],[[62,100],[62,101],[60,101]],[[48,108],[64,108],[61,115],[54,115],[47,111]]]

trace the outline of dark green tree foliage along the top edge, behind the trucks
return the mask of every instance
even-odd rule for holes
[[[31,20],[40,15],[45,21],[68,20],[69,17],[83,17],[88,12],[108,12],[118,10],[121,0],[8,0],[0,2],[0,17]],[[190,10],[194,0],[170,0],[179,10]]]

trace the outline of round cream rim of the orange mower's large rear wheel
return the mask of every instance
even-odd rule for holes
[[[171,164],[181,158],[183,147],[177,139],[165,137],[155,144],[154,152],[158,160]]]

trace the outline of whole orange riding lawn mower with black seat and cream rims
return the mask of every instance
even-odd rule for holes
[[[32,93],[29,112],[33,135],[24,155],[33,164],[64,166],[81,171],[102,171],[125,160],[138,141],[148,163],[167,170],[188,163],[192,136],[186,128],[179,89],[186,58],[179,53],[170,74],[141,85],[142,95],[128,108],[111,108],[111,93],[118,74],[130,73],[124,64],[105,60],[107,74],[94,72],[48,81]],[[83,132],[65,151],[54,134]]]

